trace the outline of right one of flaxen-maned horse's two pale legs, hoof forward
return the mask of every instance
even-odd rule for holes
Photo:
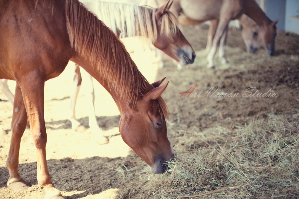
[[[92,76],[89,75],[83,68],[80,68],[82,80],[84,82],[85,100],[88,110],[88,124],[91,132],[97,137],[98,144],[107,144],[109,141],[104,136],[103,131],[97,124],[97,119],[94,112],[94,87],[92,83]]]

